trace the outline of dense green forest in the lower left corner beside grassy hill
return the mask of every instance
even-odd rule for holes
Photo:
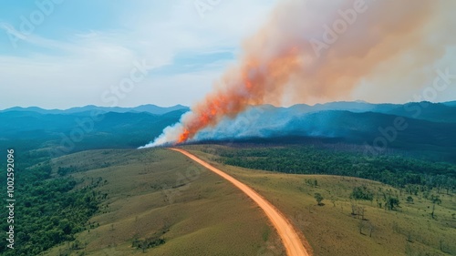
[[[15,250],[0,241],[0,255],[37,255],[85,230],[88,219],[98,210],[98,186],[92,182],[78,188],[81,180],[54,177],[50,159],[29,152],[16,157],[15,169]],[[3,168],[3,167],[2,167]],[[1,169],[2,173],[5,173]],[[6,184],[2,177],[2,184]],[[6,192],[5,192],[6,196]],[[6,210],[0,212],[0,227],[7,231]]]

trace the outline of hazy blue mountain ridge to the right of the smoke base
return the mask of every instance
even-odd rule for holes
[[[196,141],[331,138],[371,148],[426,152],[422,154],[454,161],[456,107],[449,105],[430,102],[404,105],[333,102],[316,106],[300,104],[289,108],[252,106],[237,118],[223,118],[214,128],[203,129],[196,135]],[[406,128],[395,128],[397,120]]]

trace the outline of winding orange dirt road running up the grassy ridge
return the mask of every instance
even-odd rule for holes
[[[304,245],[299,238],[299,235],[295,231],[294,227],[285,219],[285,217],[280,213],[280,211],[276,210],[275,207],[267,200],[264,200],[254,189],[251,189],[241,181],[234,179],[230,175],[224,173],[220,169],[214,168],[212,165],[208,164],[207,162],[203,161],[192,155],[191,153],[181,149],[181,148],[170,148],[171,150],[178,151],[192,159],[193,161],[201,164],[204,168],[215,172],[216,174],[222,176],[223,179],[226,179],[233,183],[238,189],[241,189],[247,196],[249,196],[254,202],[264,210],[267,218],[271,220],[273,223],[275,230],[279,234],[282,242],[285,246],[286,255],[288,256],[310,256],[311,254],[306,251]]]

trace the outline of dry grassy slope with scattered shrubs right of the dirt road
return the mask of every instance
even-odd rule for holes
[[[192,146],[191,152],[270,200],[305,234],[315,255],[456,254],[456,196],[452,193],[440,195],[441,203],[435,207],[436,218],[432,219],[432,204],[420,192],[411,195],[413,203],[407,203],[410,195],[404,189],[368,179],[284,174],[223,165],[214,161],[217,155],[202,152],[211,147]],[[374,193],[372,202],[350,199],[353,189],[360,186]],[[316,205],[315,193],[323,196],[324,206]],[[378,207],[383,193],[399,198],[401,203],[396,210]],[[359,207],[364,208],[365,220],[357,213]]]

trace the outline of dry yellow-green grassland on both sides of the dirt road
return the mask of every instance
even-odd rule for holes
[[[431,204],[421,195],[406,203],[399,189],[366,180],[295,175],[243,169],[215,161],[201,147],[184,147],[258,191],[306,236],[322,255],[456,255],[456,197],[440,195],[433,220]],[[205,150],[207,151],[207,150]],[[227,181],[168,149],[92,150],[56,159],[54,166],[74,166],[79,186],[99,180],[99,213],[77,241],[45,255],[284,255],[284,249],[254,202]],[[56,170],[57,171],[57,170]],[[56,174],[57,175],[57,174]],[[317,181],[317,185],[310,185]],[[378,208],[376,200],[350,200],[353,188],[366,185],[389,191],[398,210]],[[316,205],[315,193],[324,200]],[[365,210],[365,220],[352,215]],[[98,226],[99,225],[99,226]],[[165,242],[144,252],[144,241]],[[133,246],[135,244],[136,246]]]

